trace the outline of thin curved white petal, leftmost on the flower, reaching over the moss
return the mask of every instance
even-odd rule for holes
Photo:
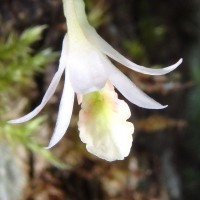
[[[62,54],[61,54],[61,58],[60,58],[60,65],[59,65],[58,71],[55,73],[55,75],[54,75],[54,77],[42,99],[42,102],[32,112],[30,112],[27,115],[20,117],[18,119],[10,120],[10,121],[8,121],[8,123],[17,124],[17,123],[26,122],[26,121],[32,119],[33,117],[35,117],[44,108],[44,106],[47,104],[49,99],[54,94],[54,92],[58,86],[58,83],[60,81],[60,78],[63,74],[63,71],[66,67],[64,61],[67,60],[67,58],[66,58],[67,57],[67,49],[68,49],[68,39],[67,39],[67,35],[66,35],[63,40],[63,50],[62,50]]]

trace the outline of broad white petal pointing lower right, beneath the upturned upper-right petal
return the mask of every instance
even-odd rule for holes
[[[163,106],[156,102],[154,99],[142,92],[129,78],[127,78],[121,71],[115,66],[110,64],[112,71],[110,75],[110,81],[119,90],[119,92],[128,99],[131,103],[136,104],[139,107],[147,109],[162,109],[167,106]]]

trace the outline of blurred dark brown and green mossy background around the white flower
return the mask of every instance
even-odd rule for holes
[[[135,125],[130,155],[109,163],[85,150],[78,136],[80,107],[50,151],[62,81],[39,116],[31,111],[57,70],[66,33],[61,0],[0,0],[0,200],[188,200],[200,188],[200,1],[87,0],[90,22],[134,62],[164,67],[146,76],[115,63],[164,110],[130,104]],[[120,95],[120,98],[123,98]],[[123,133],[122,133],[123,134]]]

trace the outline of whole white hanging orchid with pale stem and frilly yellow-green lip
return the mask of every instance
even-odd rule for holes
[[[134,127],[126,121],[130,117],[130,109],[118,99],[113,85],[127,100],[139,107],[162,109],[166,106],[137,88],[108,57],[149,75],[169,73],[181,64],[182,59],[162,69],[137,65],[98,35],[87,20],[83,0],[63,0],[63,6],[68,33],[63,40],[58,71],[41,104],[29,114],[9,122],[22,123],[35,117],[52,97],[65,73],[56,127],[47,148],[57,144],[67,131],[77,94],[79,103],[82,103],[78,122],[80,138],[86,143],[88,151],[108,161],[121,160],[130,152]]]

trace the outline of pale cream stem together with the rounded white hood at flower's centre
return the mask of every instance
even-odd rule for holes
[[[108,78],[104,67],[106,56],[87,40],[82,28],[89,26],[84,1],[64,1],[69,34],[69,74],[74,91],[78,94],[101,89]]]

